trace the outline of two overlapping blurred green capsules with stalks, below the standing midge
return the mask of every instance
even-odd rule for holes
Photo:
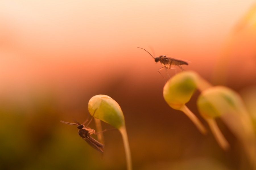
[[[184,112],[199,131],[206,134],[206,128],[201,121],[185,105],[197,89],[201,92],[197,98],[197,109],[208,123],[220,147],[227,150],[229,143],[218,128],[216,118],[220,118],[238,138],[248,160],[255,167],[256,138],[253,121],[237,92],[225,86],[212,86],[197,73],[184,71],[168,80],[163,95],[170,107]]]

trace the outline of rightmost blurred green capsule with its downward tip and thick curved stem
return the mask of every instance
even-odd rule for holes
[[[252,120],[245,109],[240,95],[225,86],[215,86],[204,90],[197,99],[197,108],[208,124],[214,118],[220,117],[226,126],[234,133],[245,148],[247,157],[255,166],[256,138],[253,130]],[[225,149],[225,141],[217,124],[209,124],[216,140]],[[214,130],[217,128],[217,131]],[[219,132],[218,132],[219,131]]]

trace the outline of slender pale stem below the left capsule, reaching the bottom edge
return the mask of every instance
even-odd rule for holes
[[[120,133],[122,135],[122,138],[123,138],[123,145],[124,145],[124,148],[125,148],[127,170],[132,170],[131,151],[130,151],[128,136],[127,136],[125,126],[122,126],[121,128],[119,128],[119,131],[120,131]]]

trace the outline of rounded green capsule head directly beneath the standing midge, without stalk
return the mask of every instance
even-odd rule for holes
[[[198,75],[184,71],[173,76],[164,86],[164,99],[170,107],[179,110],[187,103],[197,88]]]

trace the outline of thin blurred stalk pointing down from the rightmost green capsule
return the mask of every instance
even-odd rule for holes
[[[210,129],[211,129],[215,139],[217,140],[218,144],[220,145],[220,147],[222,147],[222,149],[224,149],[224,150],[227,150],[229,148],[229,143],[225,139],[223,134],[221,133],[215,119],[205,119],[205,120],[209,124]]]

